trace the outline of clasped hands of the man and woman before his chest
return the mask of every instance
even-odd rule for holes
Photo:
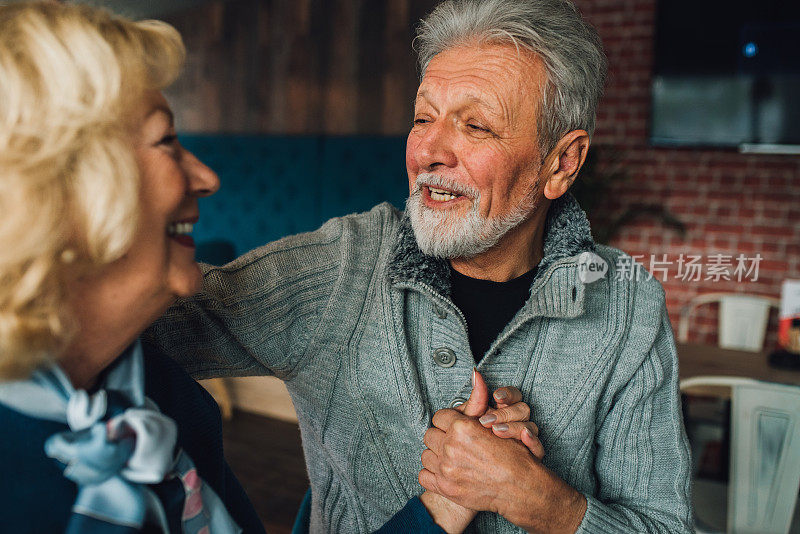
[[[497,408],[489,407],[486,383],[473,371],[469,400],[436,412],[424,437],[422,503],[447,532],[462,532],[482,510],[529,530],[574,532],[585,500],[542,465],[530,407],[514,387],[493,397]]]

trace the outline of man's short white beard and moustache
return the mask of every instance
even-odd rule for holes
[[[430,209],[422,202],[423,186],[441,187],[471,199],[472,209],[464,216],[450,210]],[[414,229],[417,246],[428,256],[437,258],[472,258],[495,246],[510,230],[519,226],[536,207],[534,189],[514,208],[498,217],[484,217],[480,208],[480,192],[432,173],[417,177],[414,191],[406,200],[406,213]]]

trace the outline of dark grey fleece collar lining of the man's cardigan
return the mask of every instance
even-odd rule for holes
[[[534,284],[558,260],[594,251],[589,220],[571,193],[550,204],[545,221],[544,257]],[[450,295],[450,266],[447,260],[422,253],[417,246],[408,215],[400,221],[398,237],[388,266],[393,284],[417,283],[431,287],[441,295]]]

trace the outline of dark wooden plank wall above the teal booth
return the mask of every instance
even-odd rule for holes
[[[413,28],[435,0],[214,0],[167,21],[185,71],[167,91],[185,132],[403,135]]]

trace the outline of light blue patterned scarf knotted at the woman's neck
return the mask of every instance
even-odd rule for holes
[[[0,384],[0,403],[29,417],[69,426],[45,442],[45,454],[78,485],[67,534],[122,534],[154,524],[163,532],[229,534],[241,529],[176,448],[178,428],[144,394],[144,358],[137,341],[106,374],[93,395],[72,387],[57,366]],[[164,485],[160,496],[148,484]],[[169,514],[163,502],[178,506]],[[169,506],[172,511],[174,506]],[[174,529],[173,529],[174,531]]]

